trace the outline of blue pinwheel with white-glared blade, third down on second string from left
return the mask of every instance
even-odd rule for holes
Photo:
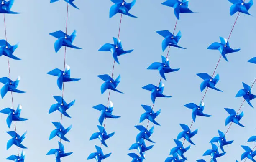
[[[49,71],[47,74],[52,76],[57,76],[57,85],[60,90],[62,90],[63,82],[70,81],[79,81],[80,79],[70,78],[70,66],[65,66],[65,71],[60,70],[59,68],[55,68],[52,71]]]

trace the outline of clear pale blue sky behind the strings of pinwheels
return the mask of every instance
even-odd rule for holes
[[[113,114],[122,116],[119,119],[107,119],[106,130],[115,135],[107,140],[109,148],[103,147],[105,154],[112,155],[104,162],[129,162],[127,153],[131,144],[136,142],[138,130],[134,125],[139,124],[139,117],[144,113],[141,104],[152,106],[150,92],[141,89],[147,84],[159,83],[158,71],[146,70],[155,61],[161,61],[163,38],[158,30],[173,31],[176,18],[173,8],[161,5],[164,0],[137,0],[131,9],[138,18],[123,16],[120,39],[125,50],[134,49],[132,53],[119,57],[120,65],[116,64],[114,78],[121,74],[118,89],[124,94],[110,93],[113,101]],[[97,104],[107,104],[108,93],[101,95],[100,86],[103,83],[97,75],[111,75],[113,58],[110,52],[99,52],[104,43],[112,43],[112,37],[117,37],[120,14],[109,18],[109,9],[113,3],[110,0],[77,0],[77,10],[69,6],[68,34],[77,30],[74,45],[82,50],[67,48],[67,64],[71,67],[71,76],[81,78],[80,81],[65,84],[64,99],[76,103],[68,110],[71,119],[63,117],[64,127],[73,124],[66,137],[71,142],[63,142],[66,152],[74,152],[71,156],[61,159],[61,162],[86,161],[94,145],[100,145],[99,140],[89,141],[94,132],[98,132],[97,124],[100,112],[92,109]],[[156,121],[161,126],[155,126],[151,139],[156,142],[153,149],[146,152],[147,162],[162,162],[169,156],[169,151],[175,146],[173,139],[182,131],[179,123],[190,125],[191,110],[184,104],[194,102],[199,104],[204,92],[200,92],[202,79],[196,73],[212,74],[220,53],[207,50],[207,47],[219,36],[227,38],[235,22],[236,15],[229,14],[231,3],[228,0],[202,1],[191,0],[189,7],[194,12],[181,14],[177,30],[182,32],[180,46],[187,50],[170,48],[169,59],[171,68],[181,68],[175,73],[166,74],[164,94],[172,98],[156,99],[155,110],[161,109]],[[10,44],[20,42],[15,56],[21,61],[10,60],[11,77],[21,76],[18,89],[25,94],[13,94],[15,109],[18,104],[23,106],[21,116],[29,118],[26,122],[17,122],[18,134],[28,131],[23,144],[26,149],[26,162],[54,162],[54,155],[46,153],[57,148],[59,138],[49,141],[50,132],[55,129],[52,121],[60,121],[60,113],[48,114],[49,108],[55,104],[53,96],[61,96],[56,84],[56,77],[46,73],[54,68],[63,68],[64,48],[54,52],[56,39],[49,33],[65,30],[67,3],[64,1],[50,4],[49,0],[16,0],[12,10],[21,12],[19,15],[6,15],[7,37]],[[255,6],[250,10],[256,15]],[[3,22],[3,15],[0,17]],[[0,25],[0,38],[4,39],[4,24]],[[220,81],[217,87],[223,92],[212,89],[205,96],[205,113],[212,117],[197,117],[192,130],[198,129],[198,134],[192,138],[196,146],[184,155],[189,162],[202,159],[202,154],[211,149],[210,139],[218,135],[218,129],[225,132],[225,118],[228,113],[225,107],[235,110],[243,102],[243,98],[235,98],[239,89],[243,88],[242,81],[251,85],[255,79],[256,66],[247,61],[255,57],[256,18],[241,14],[230,37],[232,48],[241,48],[237,53],[228,54],[229,62],[223,58],[217,68]],[[8,64],[5,56],[0,57],[0,76],[8,76]],[[3,85],[1,85],[3,86]],[[255,87],[252,92],[255,94]],[[256,106],[256,100],[251,102]],[[0,100],[0,108],[10,107],[10,93]],[[241,145],[254,147],[255,143],[247,143],[249,137],[256,135],[256,111],[247,103],[241,108],[245,115],[241,123],[246,128],[233,124],[226,138],[234,140],[225,148],[224,157],[219,162],[234,162],[240,159],[243,149]],[[6,143],[10,136],[6,131],[14,130],[14,124],[8,129],[6,115],[0,115],[0,161],[11,154],[17,154],[17,148],[11,147],[6,151]],[[146,126],[147,122],[141,123]],[[152,126],[150,123],[149,127]],[[147,143],[149,144],[149,143]],[[188,146],[188,142],[185,142]],[[20,150],[21,151],[21,150]],[[205,157],[209,161],[210,157]],[[95,161],[92,159],[91,161]]]

